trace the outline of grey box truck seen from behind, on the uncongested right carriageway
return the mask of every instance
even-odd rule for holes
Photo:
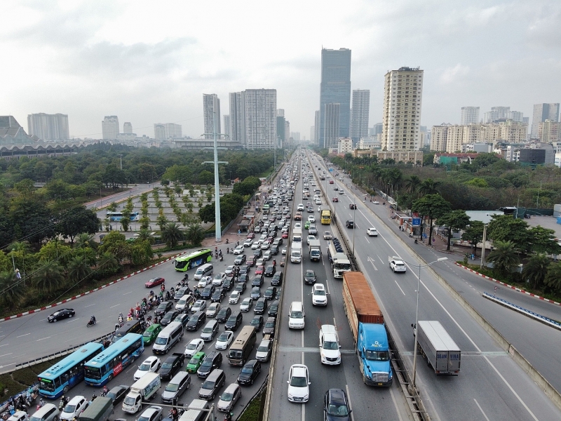
[[[417,326],[411,325],[413,335],[417,336],[417,343],[421,354],[436,374],[458,375],[460,372],[461,351],[456,342],[448,335],[439,321],[419,320]]]

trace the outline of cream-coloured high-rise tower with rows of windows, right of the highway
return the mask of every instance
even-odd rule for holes
[[[414,151],[423,146],[419,137],[423,72],[418,67],[401,67],[386,73],[382,149]]]

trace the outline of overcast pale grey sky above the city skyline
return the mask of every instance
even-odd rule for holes
[[[321,48],[350,48],[351,85],[381,121],[384,74],[424,69],[421,125],[459,123],[463,106],[530,116],[561,102],[560,0],[13,0],[0,2],[0,114],[68,114],[101,138],[106,115],[203,133],[203,93],[275,88],[291,131],[309,139]]]

